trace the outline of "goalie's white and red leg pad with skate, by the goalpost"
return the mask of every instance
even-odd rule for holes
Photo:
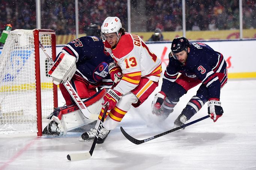
[[[105,88],[100,89],[95,95],[84,101],[90,113],[97,116],[101,112],[103,96],[107,93]],[[43,135],[66,135],[67,131],[74,130],[84,125],[90,124],[95,120],[87,119],[83,116],[76,104],[58,107],[47,119],[50,123],[44,128]]]

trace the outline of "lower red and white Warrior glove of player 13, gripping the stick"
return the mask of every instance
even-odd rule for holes
[[[108,105],[108,110],[113,109],[116,106],[116,103],[120,100],[122,94],[119,91],[108,89],[107,94],[103,97],[103,106]]]

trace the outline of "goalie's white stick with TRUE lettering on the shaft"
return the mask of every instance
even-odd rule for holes
[[[44,46],[42,45],[42,43],[39,41],[39,46],[42,48],[42,50],[44,51],[44,54],[46,55],[46,57],[48,58],[48,60],[50,60],[51,64],[54,65],[54,61],[53,59],[50,57],[50,55],[47,54],[46,49],[44,48]],[[90,113],[90,111],[87,109],[87,107],[84,105],[84,102],[81,100],[81,98],[78,96],[77,92],[75,91],[75,89],[73,88],[73,86],[71,85],[71,83],[69,81],[66,81],[65,83],[63,83],[63,85],[65,86],[65,88],[67,89],[67,91],[69,92],[70,96],[72,97],[72,99],[75,101],[75,103],[77,104],[78,108],[81,110],[81,112],[83,113],[84,117],[86,117],[87,119],[92,119],[92,120],[97,120],[98,119],[98,115],[97,114],[92,114]]]

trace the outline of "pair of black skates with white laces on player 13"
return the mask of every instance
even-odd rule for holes
[[[108,136],[108,133],[110,132],[110,130],[107,130],[106,128],[104,128],[103,126],[100,127],[100,133],[99,133],[99,137],[96,143],[101,144],[105,141],[105,139]],[[96,136],[97,130],[95,128],[91,129],[90,131],[84,132],[81,137],[83,140],[89,141],[89,140],[93,140]],[[81,140],[80,140],[81,141]]]

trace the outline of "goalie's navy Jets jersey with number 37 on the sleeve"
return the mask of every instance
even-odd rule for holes
[[[113,85],[108,74],[108,64],[112,63],[113,59],[104,53],[104,43],[98,37],[77,38],[65,45],[60,54],[62,52],[76,57],[76,74],[90,84],[100,84],[103,87]]]

